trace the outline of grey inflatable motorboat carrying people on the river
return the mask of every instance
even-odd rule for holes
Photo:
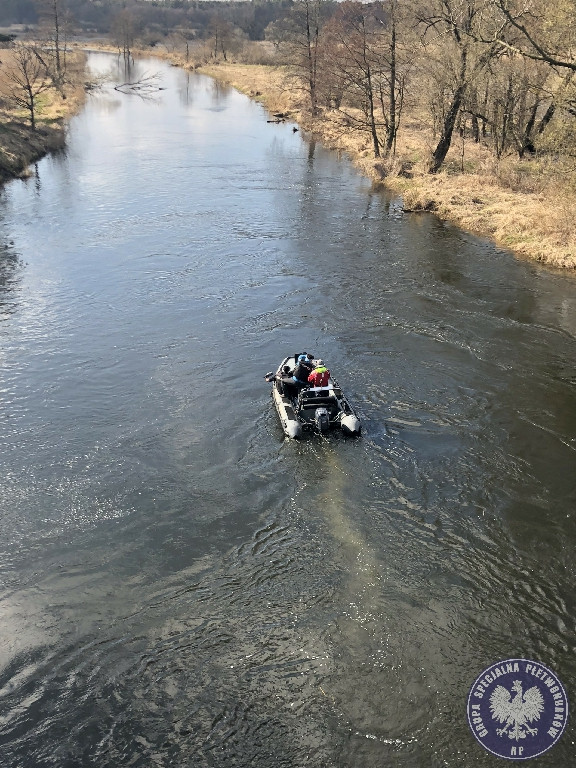
[[[360,421],[331,374],[322,387],[302,386],[292,379],[299,357],[286,357],[275,373],[270,371],[264,377],[272,384],[272,397],[284,432],[288,437],[298,438],[305,431],[324,433],[338,428],[345,435],[359,435]]]

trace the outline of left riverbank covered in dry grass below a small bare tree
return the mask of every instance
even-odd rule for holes
[[[2,51],[0,76],[6,77],[10,51]],[[82,107],[85,99],[85,56],[70,57],[68,78],[62,92],[51,89],[38,97],[37,125],[32,130],[22,110],[4,104],[0,110],[0,184],[29,174],[30,165],[66,143],[66,122]]]

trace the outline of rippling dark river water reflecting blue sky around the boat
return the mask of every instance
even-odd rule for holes
[[[2,767],[500,764],[482,670],[576,681],[574,278],[136,70],[0,193]],[[303,350],[360,439],[284,439]]]

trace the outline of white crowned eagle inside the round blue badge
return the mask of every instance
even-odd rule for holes
[[[538,729],[531,728],[529,723],[539,720],[543,710],[544,698],[538,687],[534,685],[523,694],[520,680],[514,680],[512,691],[497,685],[490,696],[492,718],[504,723],[496,733],[516,741],[525,739],[527,734],[535,736],[538,733]]]

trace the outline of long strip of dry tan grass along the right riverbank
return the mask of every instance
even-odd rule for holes
[[[345,152],[375,184],[401,195],[405,210],[434,211],[518,256],[576,269],[575,171],[567,173],[546,160],[498,161],[481,144],[457,139],[444,169],[430,175],[426,160],[432,140],[417,115],[405,119],[395,157],[375,159],[369,139],[352,133],[339,113],[323,111],[310,118],[301,92],[280,67],[220,63],[198,71],[258,99],[272,114],[287,114],[326,146]]]

